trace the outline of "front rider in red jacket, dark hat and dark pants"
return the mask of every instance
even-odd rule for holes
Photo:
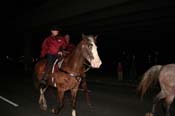
[[[68,45],[65,37],[60,35],[60,29],[53,26],[51,28],[51,35],[48,36],[42,43],[41,47],[41,58],[45,58],[47,60],[46,70],[43,74],[43,77],[40,81],[40,84],[46,84],[47,74],[51,69],[56,58],[59,60],[62,58],[62,50],[65,49]]]

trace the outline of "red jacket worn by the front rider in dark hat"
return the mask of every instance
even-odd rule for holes
[[[66,47],[67,43],[64,37],[60,36],[56,39],[53,36],[49,36],[42,43],[40,57],[43,58],[46,54],[57,55],[61,49]]]

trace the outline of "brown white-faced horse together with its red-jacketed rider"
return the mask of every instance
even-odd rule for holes
[[[76,98],[80,84],[86,93],[89,103],[89,95],[86,84],[87,65],[90,68],[100,68],[102,62],[98,55],[97,36],[84,35],[78,45],[70,42],[69,35],[61,36],[59,28],[52,28],[51,35],[42,43],[41,60],[35,64],[35,78],[37,80],[40,97],[39,105],[42,110],[47,110],[47,102],[44,92],[48,86],[57,90],[58,108],[52,108],[53,113],[59,113],[63,108],[63,99],[66,91],[72,96],[72,116],[76,116]],[[61,66],[55,72],[51,69],[61,62]],[[88,64],[87,64],[88,63]],[[88,68],[89,69],[89,68]],[[44,86],[43,86],[44,85]]]

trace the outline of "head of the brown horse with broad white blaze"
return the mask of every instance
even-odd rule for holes
[[[83,57],[91,64],[92,68],[99,68],[102,62],[96,46],[97,36],[82,34],[82,39]]]

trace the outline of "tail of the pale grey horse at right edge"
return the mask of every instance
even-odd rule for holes
[[[143,78],[138,86],[138,91],[141,93],[141,98],[144,96],[151,84],[155,81],[157,82],[161,68],[162,65],[155,65],[144,73]]]

